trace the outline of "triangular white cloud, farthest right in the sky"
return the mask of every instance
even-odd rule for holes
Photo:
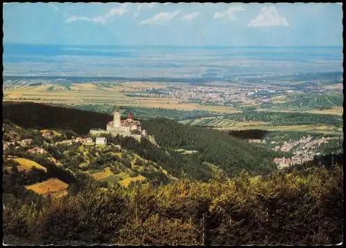
[[[275,6],[264,6],[260,10],[260,14],[248,23],[248,27],[264,27],[264,26],[289,26],[286,18],[280,17]]]

